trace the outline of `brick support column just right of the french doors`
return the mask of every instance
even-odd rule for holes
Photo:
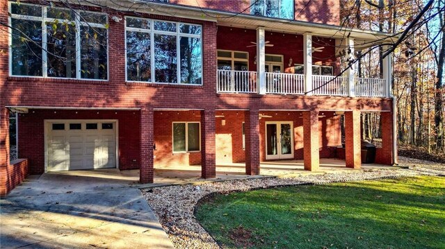
[[[302,112],[303,153],[306,171],[318,171],[320,166],[320,139],[318,135],[318,111]]]

